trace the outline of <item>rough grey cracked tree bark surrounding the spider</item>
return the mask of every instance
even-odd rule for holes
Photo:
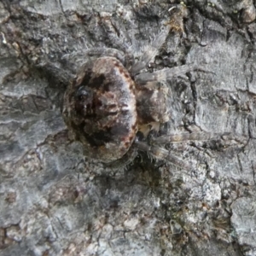
[[[151,2],[0,2],[1,255],[256,255],[253,1],[184,1],[185,17],[168,12],[175,1]],[[106,13],[138,47],[169,22],[157,68],[212,72],[170,81],[172,119],[160,130],[236,135],[170,145],[196,173],[146,154],[106,168],[69,141],[63,74],[84,61],[76,53],[113,47]]]

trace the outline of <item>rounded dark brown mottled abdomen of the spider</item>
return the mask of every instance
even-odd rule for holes
[[[122,63],[113,57],[87,62],[67,88],[63,116],[88,156],[121,158],[137,133],[135,85]]]

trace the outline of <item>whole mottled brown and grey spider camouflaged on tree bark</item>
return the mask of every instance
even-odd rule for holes
[[[147,137],[148,131],[157,130],[170,119],[169,88],[165,81],[203,70],[184,65],[153,73],[144,71],[165,43],[169,30],[164,26],[135,63],[128,47],[125,55],[118,49],[88,50],[88,55],[98,56],[87,61],[67,87],[62,114],[73,136],[83,143],[84,154],[90,158],[112,163],[129,155],[131,150],[143,150],[154,158],[189,168],[158,144],[193,139],[195,135],[159,137],[154,139],[154,145],[137,137],[137,131]],[[119,39],[114,40],[117,44]]]

